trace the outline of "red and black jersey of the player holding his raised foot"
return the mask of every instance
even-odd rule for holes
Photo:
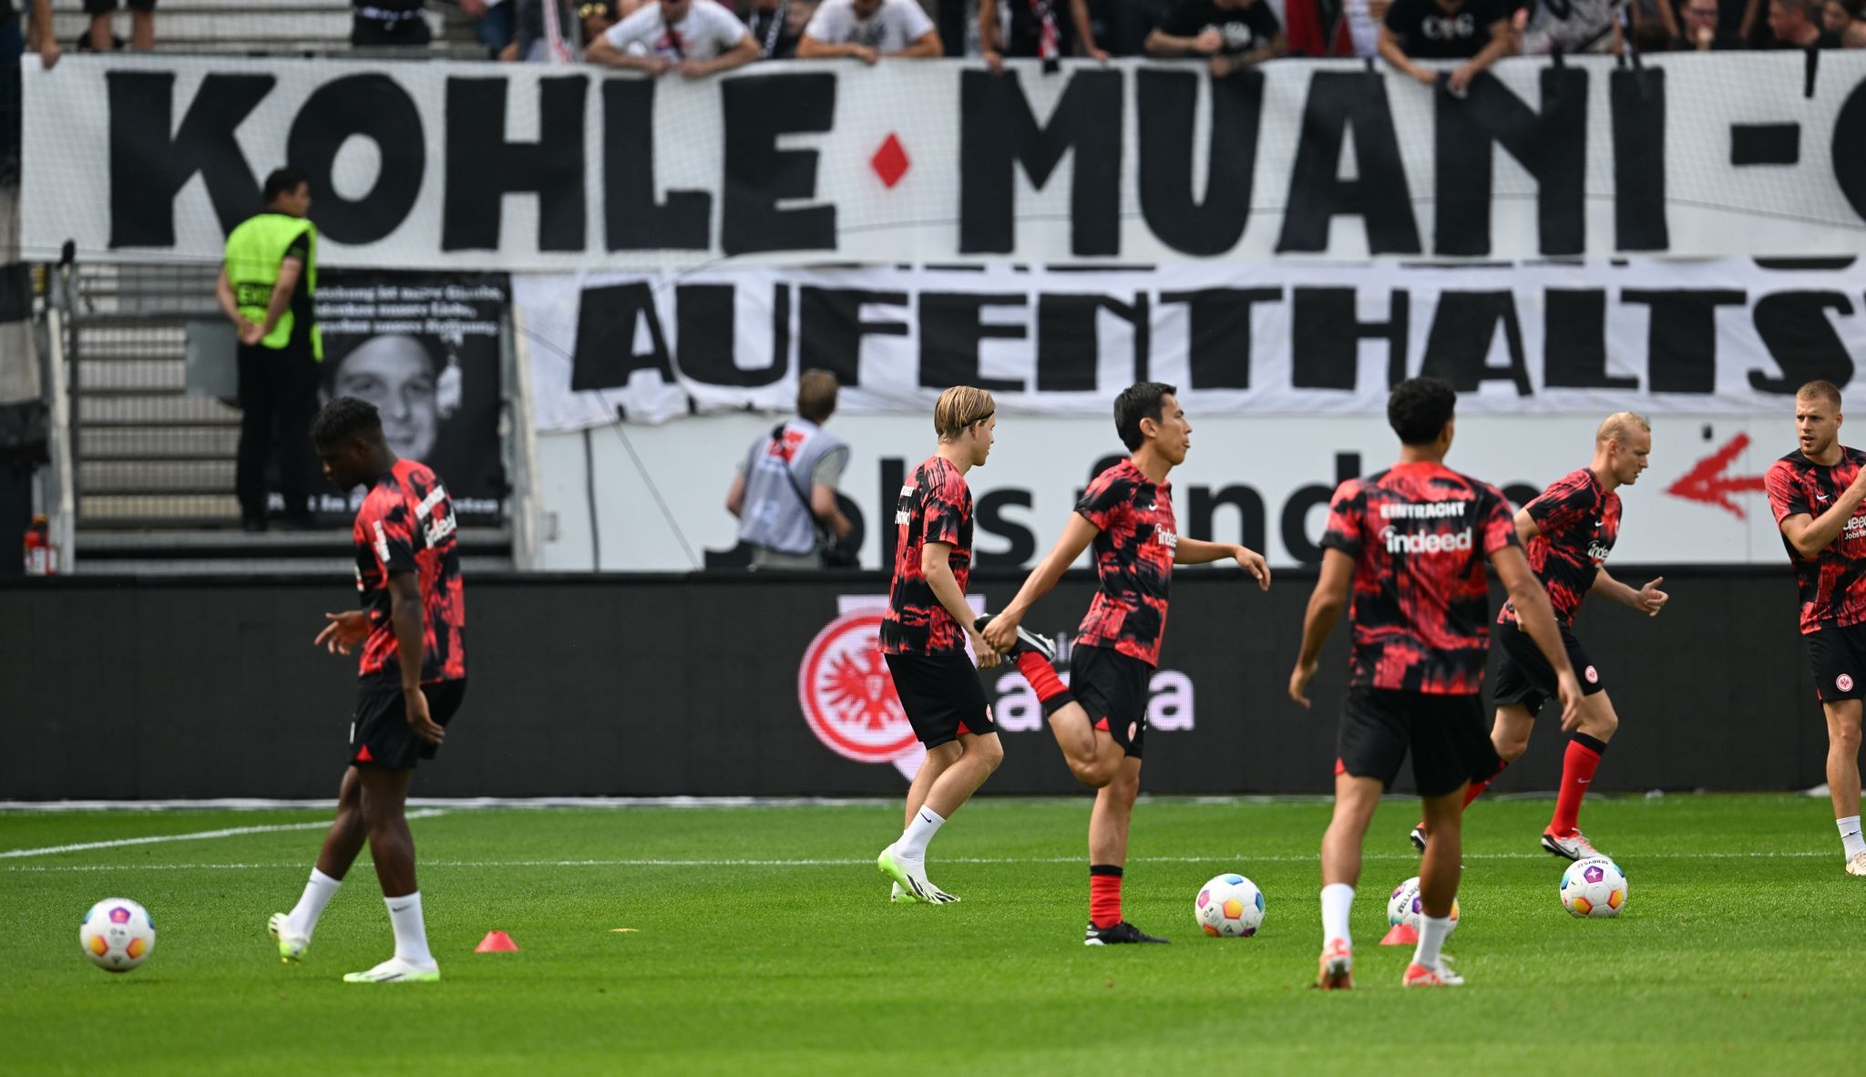
[[[1155,483],[1133,459],[1123,459],[1088,483],[1075,511],[1099,528],[1088,549],[1101,577],[1075,646],[1107,648],[1157,666],[1172,554],[1179,545],[1172,483]]]

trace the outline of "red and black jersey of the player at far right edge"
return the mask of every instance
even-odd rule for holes
[[[1827,511],[1853,485],[1860,467],[1866,467],[1866,452],[1844,446],[1840,463],[1832,467],[1814,463],[1799,448],[1769,465],[1762,483],[1769,491],[1775,525],[1780,528],[1784,519],[1797,513],[1817,517]],[[1782,549],[1795,562],[1803,633],[1866,622],[1866,506],[1855,510],[1840,538],[1814,558],[1795,552],[1788,536],[1782,536]]]

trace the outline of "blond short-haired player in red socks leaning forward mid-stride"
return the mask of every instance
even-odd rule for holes
[[[1541,834],[1543,849],[1569,860],[1601,855],[1581,832],[1581,801],[1594,782],[1607,741],[1614,739],[1614,730],[1620,728],[1601,672],[1571,629],[1575,610],[1590,592],[1599,592],[1648,616],[1659,616],[1668,597],[1659,590],[1664,577],[1633,590],[1603,567],[1620,536],[1620,495],[1614,491],[1638,482],[1650,454],[1651,424],[1631,411],[1610,414],[1594,431],[1594,463],[1562,476],[1515,513],[1517,538],[1528,554],[1528,567],[1549,592],[1549,605],[1554,607],[1562,629],[1562,646],[1567,648],[1567,663],[1581,672],[1581,728],[1567,741],[1554,818]],[[1491,745],[1497,747],[1497,773],[1502,773],[1523,758],[1538,711],[1554,698],[1554,670],[1523,633],[1513,605],[1504,603],[1497,625],[1497,644],[1504,659],[1491,689],[1491,700],[1497,704]],[[1491,775],[1470,782],[1465,806],[1470,806],[1470,801],[1476,801],[1495,778],[1497,775]],[[1413,829],[1413,844],[1422,851],[1426,834],[1424,823]]]

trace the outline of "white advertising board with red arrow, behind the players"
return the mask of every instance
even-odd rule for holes
[[[1446,463],[1521,502],[1588,467],[1605,414],[1461,416]],[[1213,416],[1194,407],[1189,418],[1192,452],[1172,474],[1179,534],[1248,543],[1278,567],[1319,562],[1316,543],[1336,483],[1381,470],[1398,455],[1385,416],[1316,422]],[[769,437],[771,422],[731,414],[539,437],[541,532],[549,538],[537,567],[690,571],[743,564],[726,489],[754,441]],[[851,446],[840,489],[845,511],[862,521],[862,566],[884,567],[894,500],[903,474],[933,454],[933,422],[926,414],[838,414],[829,426]],[[1791,618],[1795,584],[1762,476],[1795,448],[1791,403],[1765,416],[1655,418],[1651,467],[1620,489],[1625,525],[1608,569],[1622,562],[1778,564],[1782,608]],[[991,459],[967,474],[976,564],[1032,567],[1062,534],[1090,476],[1123,452],[1112,416],[1000,416]]]

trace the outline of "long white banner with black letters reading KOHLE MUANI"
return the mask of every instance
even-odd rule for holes
[[[1812,256],[1866,246],[1866,54],[599,67],[24,65],[24,241],[220,258],[280,164],[328,265]]]

